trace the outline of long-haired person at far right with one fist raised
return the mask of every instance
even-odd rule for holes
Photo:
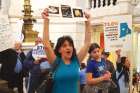
[[[116,69],[116,80],[119,85],[120,93],[129,93],[129,78],[130,78],[130,62],[128,57],[121,57],[121,50],[116,51],[117,55],[117,69]]]

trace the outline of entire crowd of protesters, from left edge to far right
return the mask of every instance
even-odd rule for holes
[[[97,43],[91,43],[92,26],[89,13],[85,12],[87,18],[85,40],[78,53],[70,36],[58,38],[53,49],[49,41],[48,16],[48,9],[45,9],[42,12],[43,39],[37,38],[35,41],[35,46],[43,44],[46,57],[35,58],[33,49],[25,55],[20,42],[16,42],[14,48],[0,52],[2,64],[0,79],[8,82],[10,90],[17,88],[18,93],[24,93],[24,78],[26,92],[37,92],[38,87],[47,78],[46,74],[51,66],[57,64],[53,72],[52,93],[129,93],[130,62],[128,57],[121,56],[121,50],[116,50],[115,68],[108,59],[110,53],[101,51]],[[82,63],[87,53],[89,58],[87,62]]]

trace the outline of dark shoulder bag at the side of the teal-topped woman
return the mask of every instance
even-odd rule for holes
[[[52,93],[54,85],[54,72],[57,69],[59,63],[54,63],[48,74],[45,75],[45,79],[37,88],[37,93]]]

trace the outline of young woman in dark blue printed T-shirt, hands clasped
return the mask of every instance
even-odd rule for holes
[[[95,87],[94,93],[107,93],[111,74],[106,68],[105,60],[101,58],[100,46],[92,43],[88,53],[87,84]]]

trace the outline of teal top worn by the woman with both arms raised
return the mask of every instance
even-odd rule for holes
[[[54,73],[53,93],[79,93],[79,64],[77,58],[73,58],[70,64],[65,64],[61,58],[56,58],[59,62]]]

